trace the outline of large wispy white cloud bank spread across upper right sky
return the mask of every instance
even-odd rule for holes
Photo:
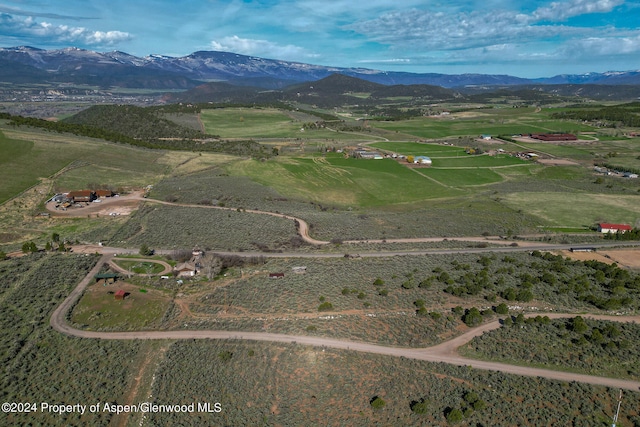
[[[553,2],[530,14],[497,8],[472,12],[411,9],[388,12],[375,19],[348,24],[391,49],[454,50],[504,43],[584,38],[605,31],[598,27],[558,25],[554,22],[589,13],[611,12],[624,0],[570,0]]]

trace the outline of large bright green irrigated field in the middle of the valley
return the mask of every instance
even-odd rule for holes
[[[398,162],[339,156],[246,160],[228,167],[278,193],[342,206],[386,206],[462,195]]]

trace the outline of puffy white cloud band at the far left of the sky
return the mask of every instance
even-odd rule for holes
[[[40,42],[82,43],[90,46],[112,46],[131,39],[129,33],[122,31],[92,31],[84,27],[55,25],[38,22],[32,17],[15,18],[8,14],[0,15],[0,28],[4,34],[30,37]]]

